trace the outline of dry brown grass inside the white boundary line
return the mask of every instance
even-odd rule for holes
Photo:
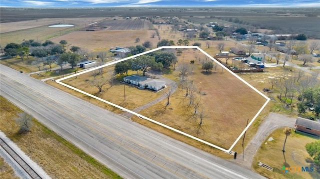
[[[198,50],[184,50],[182,55],[178,56],[177,66],[182,62],[189,63],[194,59],[195,53],[199,53]],[[200,98],[198,110],[204,111],[203,125],[198,126],[199,118],[195,117],[197,115],[192,116],[194,109],[189,105],[189,99],[185,97],[185,91],[181,90],[181,87],[173,94],[170,105],[165,105],[165,99],[143,110],[141,114],[228,149],[245,128],[247,119],[251,120],[266,100],[217,64],[214,65],[217,66],[216,72],[204,72],[201,69],[203,54],[201,58],[200,64],[193,64],[189,80],[193,81],[196,87],[194,93]],[[110,66],[103,71],[112,70]],[[178,82],[176,71],[163,76]],[[89,72],[63,82],[131,110],[163,95],[162,91],[154,93],[125,85],[127,97],[124,101],[121,83],[116,82],[112,87],[105,85],[104,90],[97,93],[97,88],[90,85],[91,80],[93,77]]]

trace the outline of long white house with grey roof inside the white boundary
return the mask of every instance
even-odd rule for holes
[[[123,81],[129,84],[137,85],[138,88],[147,88],[153,91],[158,91],[166,87],[164,81],[148,78],[141,75],[126,76],[123,77]]]

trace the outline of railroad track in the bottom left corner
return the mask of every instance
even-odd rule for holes
[[[6,142],[0,138],[0,146],[22,167],[32,179],[42,179]]]

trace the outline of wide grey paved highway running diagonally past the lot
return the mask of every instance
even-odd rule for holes
[[[0,95],[124,178],[263,178],[3,65]]]

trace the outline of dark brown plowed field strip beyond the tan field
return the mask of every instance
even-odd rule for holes
[[[105,26],[106,30],[148,30],[150,22],[146,20],[104,20],[97,26]]]

